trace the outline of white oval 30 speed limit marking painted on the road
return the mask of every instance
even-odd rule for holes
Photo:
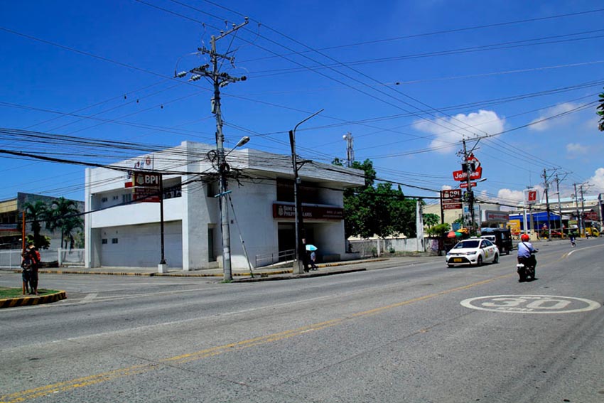
[[[503,313],[575,313],[600,308],[600,303],[572,296],[493,295],[464,299],[461,305]]]

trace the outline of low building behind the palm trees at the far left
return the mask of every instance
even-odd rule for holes
[[[23,205],[42,201],[50,207],[53,200],[58,198],[33,193],[17,193],[16,198],[0,201],[0,249],[21,248],[21,223],[23,222]],[[80,212],[84,211],[84,202],[73,200]],[[50,237],[49,249],[58,249],[61,245],[60,231],[50,232],[45,229],[45,222],[41,222],[41,235]],[[31,234],[31,223],[26,223],[26,235]]]

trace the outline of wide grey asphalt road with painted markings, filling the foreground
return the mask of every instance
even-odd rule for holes
[[[0,402],[604,402],[604,240],[539,248],[527,283],[513,255],[249,284],[46,275],[68,299],[0,310]]]

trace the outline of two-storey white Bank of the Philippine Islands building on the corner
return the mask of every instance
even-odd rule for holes
[[[112,167],[162,171],[164,245],[168,267],[183,270],[222,265],[222,235],[215,147],[190,141]],[[230,164],[230,250],[232,267],[247,269],[278,260],[293,249],[291,156],[237,149]],[[169,174],[168,174],[169,173]],[[364,173],[309,161],[299,168],[306,243],[324,261],[347,259],[343,189],[362,186]],[[161,259],[160,203],[129,203],[140,188],[126,187],[131,173],[86,170],[87,267],[157,267]],[[126,204],[124,204],[126,203]]]

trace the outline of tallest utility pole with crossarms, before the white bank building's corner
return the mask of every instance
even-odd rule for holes
[[[233,279],[231,272],[231,241],[229,231],[229,205],[227,195],[229,193],[227,183],[227,173],[229,167],[225,159],[225,136],[222,134],[222,112],[220,110],[220,88],[229,85],[232,82],[245,81],[247,77],[232,77],[226,72],[220,72],[218,62],[224,60],[234,63],[234,56],[227,56],[217,53],[216,42],[231,33],[236,32],[240,28],[244,27],[248,23],[248,18],[245,17],[245,21],[239,25],[232,24],[232,28],[229,31],[220,31],[219,36],[213,36],[210,38],[210,49],[198,48],[203,55],[210,55],[210,64],[201,65],[198,68],[193,68],[190,73],[193,75],[189,81],[200,80],[201,77],[207,77],[212,81],[214,87],[214,97],[212,97],[212,113],[216,117],[216,154],[218,163],[218,172],[220,173],[220,193],[217,197],[220,197],[220,228],[222,230],[222,270],[224,273],[225,281],[231,281]],[[211,68],[211,70],[210,70]],[[176,77],[184,77],[187,72],[175,72]]]

